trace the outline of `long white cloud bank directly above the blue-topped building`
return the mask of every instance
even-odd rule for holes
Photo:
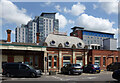
[[[82,14],[76,21],[76,24],[85,27],[88,30],[96,30],[102,32],[115,32],[113,29],[114,22],[110,22],[108,19],[96,18]]]

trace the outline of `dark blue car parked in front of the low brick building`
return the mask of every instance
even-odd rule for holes
[[[100,73],[100,67],[97,64],[88,64],[83,66],[84,73]]]

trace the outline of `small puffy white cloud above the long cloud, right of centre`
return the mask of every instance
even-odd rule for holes
[[[79,16],[85,12],[86,7],[80,3],[74,4],[71,9],[64,8],[65,13],[71,13],[72,15]]]

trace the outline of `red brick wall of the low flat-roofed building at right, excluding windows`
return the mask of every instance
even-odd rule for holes
[[[100,66],[101,69],[106,69],[107,65],[112,62],[116,62],[116,57],[118,57],[118,51],[110,51],[110,50],[90,50],[89,57],[92,56],[92,63],[95,63],[95,57],[100,57]],[[103,66],[103,57],[105,57],[105,66]],[[89,58],[88,58],[89,59]]]

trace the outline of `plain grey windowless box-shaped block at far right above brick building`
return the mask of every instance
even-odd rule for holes
[[[104,39],[103,46],[106,50],[117,50],[117,39]]]

